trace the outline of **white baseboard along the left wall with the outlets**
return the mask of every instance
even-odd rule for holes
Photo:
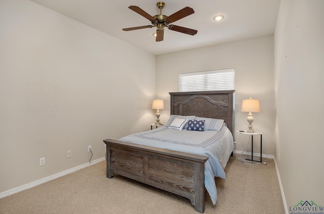
[[[105,157],[99,158],[97,160],[93,160],[91,162],[88,162],[88,163],[85,163],[85,164],[82,164],[82,165],[79,165],[79,166],[76,166],[76,167],[73,167],[73,168],[70,168],[70,169],[67,169],[67,170],[64,170],[63,172],[57,173],[55,175],[52,175],[52,176],[49,176],[49,177],[46,177],[46,178],[43,178],[43,179],[39,179],[39,180],[31,182],[29,184],[25,184],[23,186],[16,187],[14,189],[2,192],[2,193],[0,193],[0,198],[4,198],[4,197],[6,197],[8,195],[12,195],[14,193],[21,192],[23,190],[26,190],[26,189],[29,189],[31,187],[37,186],[39,184],[43,184],[43,183],[46,183],[48,181],[57,179],[59,177],[65,176],[65,175],[70,174],[70,173],[73,173],[73,172],[75,172],[75,171],[77,171],[79,169],[85,168],[87,166],[91,166],[91,165],[93,165],[95,163],[98,163],[98,162],[100,162],[102,160],[105,160]]]

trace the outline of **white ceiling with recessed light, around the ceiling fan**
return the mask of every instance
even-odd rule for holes
[[[280,0],[165,0],[162,14],[170,16],[184,7],[194,14],[173,24],[198,30],[188,35],[165,28],[164,40],[156,42],[156,28],[123,31],[122,28],[150,25],[130,10],[138,6],[151,16],[159,14],[152,0],[30,0],[53,11],[110,34],[154,55],[216,45],[228,41],[272,34]],[[225,19],[213,20],[217,14]]]

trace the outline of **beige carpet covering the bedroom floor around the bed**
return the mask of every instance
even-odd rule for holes
[[[218,200],[206,194],[204,213],[285,213],[274,161],[248,165],[230,157]],[[198,213],[186,198],[115,175],[102,161],[0,199],[0,213]]]

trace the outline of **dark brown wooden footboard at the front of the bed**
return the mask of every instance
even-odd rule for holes
[[[205,211],[207,156],[104,140],[107,178],[118,175],[189,198],[195,210]]]

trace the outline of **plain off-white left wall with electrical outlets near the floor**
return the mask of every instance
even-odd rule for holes
[[[0,192],[149,129],[155,56],[25,0],[0,1],[0,32]]]

